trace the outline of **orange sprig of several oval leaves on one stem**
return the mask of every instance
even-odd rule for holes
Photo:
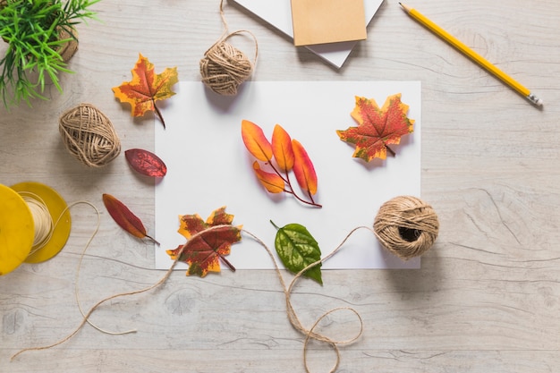
[[[315,202],[313,195],[317,193],[317,174],[311,159],[298,140],[290,138],[288,132],[276,124],[272,133],[272,143],[268,141],[259,125],[242,120],[242,140],[250,154],[257,158],[253,163],[253,170],[259,182],[270,193],[286,192],[302,203],[321,208]],[[259,161],[267,165],[272,172],[265,171]],[[294,190],[290,180],[293,171],[301,191],[309,199],[302,199]]]

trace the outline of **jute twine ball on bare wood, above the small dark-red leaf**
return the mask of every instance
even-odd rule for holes
[[[81,104],[68,110],[58,128],[70,154],[83,165],[102,167],[121,153],[113,123],[95,106]]]

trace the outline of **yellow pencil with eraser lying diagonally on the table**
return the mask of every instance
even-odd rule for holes
[[[543,102],[539,97],[536,97],[530,93],[529,89],[526,89],[518,81],[513,80],[513,78],[502,72],[494,64],[490,64],[484,57],[473,51],[470,47],[467,47],[462,41],[455,38],[449,32],[443,30],[441,27],[437,26],[436,23],[429,21],[424,15],[412,9],[410,6],[399,3],[403,7],[404,12],[410,15],[414,20],[420,22],[421,25],[425,26],[428,30],[435,33],[439,38],[443,38],[447,43],[451,44],[453,47],[457,48],[462,54],[471,58],[472,61],[476,62],[488,72],[492,73],[496,78],[504,81],[505,84],[510,86],[512,89],[520,93],[523,97],[527,98],[533,105],[543,106]]]

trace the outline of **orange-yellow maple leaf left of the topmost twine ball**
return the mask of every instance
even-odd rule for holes
[[[132,81],[124,81],[120,86],[113,88],[113,92],[121,102],[131,104],[132,116],[142,116],[147,111],[154,111],[165,128],[165,121],[156,106],[156,101],[174,96],[171,87],[177,81],[176,67],[166,68],[164,72],[156,74],[154,65],[140,54],[132,69]]]

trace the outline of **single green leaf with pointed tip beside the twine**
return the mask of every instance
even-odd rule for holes
[[[277,229],[274,243],[284,267],[293,273],[299,273],[303,268],[321,259],[318,243],[305,226],[294,223],[278,228],[272,221],[270,223]],[[303,276],[323,284],[321,265],[322,263],[319,262],[316,266],[310,267]]]

